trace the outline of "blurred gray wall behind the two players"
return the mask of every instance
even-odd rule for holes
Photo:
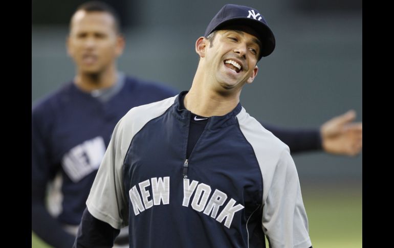
[[[32,1],[32,104],[74,76],[65,39],[75,8],[84,1]],[[126,49],[118,61],[127,74],[179,91],[191,85],[195,40],[227,3],[252,6],[276,37],[275,51],[258,63],[241,102],[257,120],[282,127],[317,127],[348,109],[362,121],[362,2],[107,1],[121,14]],[[294,155],[302,185],[361,190],[362,153],[344,157]],[[313,187],[312,187],[313,188]]]

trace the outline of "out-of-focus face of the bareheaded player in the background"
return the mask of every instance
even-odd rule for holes
[[[112,15],[77,11],[71,21],[67,47],[79,73],[97,74],[115,64],[123,51],[122,41]]]

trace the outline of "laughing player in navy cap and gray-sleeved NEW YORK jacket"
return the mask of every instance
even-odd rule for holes
[[[189,91],[116,125],[74,247],[312,247],[289,147],[240,105],[275,48],[258,10],[225,5],[198,38]]]

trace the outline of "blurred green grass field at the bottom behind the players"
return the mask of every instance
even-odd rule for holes
[[[332,188],[301,184],[301,187],[313,247],[361,248],[361,186]],[[50,247],[32,233],[32,248]]]

